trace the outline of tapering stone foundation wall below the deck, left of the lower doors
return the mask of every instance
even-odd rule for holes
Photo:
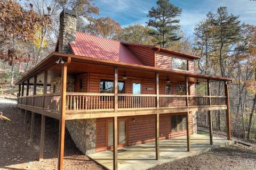
[[[96,119],[68,120],[66,127],[76,147],[83,154],[95,153],[96,146]]]

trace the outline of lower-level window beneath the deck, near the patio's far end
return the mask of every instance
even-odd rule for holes
[[[171,116],[171,131],[186,131],[187,130],[187,121],[186,114],[172,115]]]

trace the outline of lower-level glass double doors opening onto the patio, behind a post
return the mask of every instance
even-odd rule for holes
[[[127,143],[127,120],[121,119],[117,120],[117,141],[118,141],[118,147],[124,147]],[[108,120],[107,121],[107,149],[113,148],[113,121]]]

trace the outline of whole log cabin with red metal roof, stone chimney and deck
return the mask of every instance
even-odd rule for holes
[[[25,120],[31,112],[30,140],[35,113],[42,115],[39,161],[45,116],[60,122],[58,169],[63,169],[65,129],[84,154],[113,149],[114,169],[118,147],[155,141],[159,159],[159,140],[186,135],[190,151],[196,111],[207,111],[211,122],[211,111],[226,110],[230,140],[231,79],[195,73],[198,56],[78,32],[76,19],[74,11],[60,13],[55,52],[15,82]],[[224,82],[224,95],[211,95],[215,81]],[[207,84],[205,96],[196,96],[198,83]],[[209,141],[212,145],[212,123]]]

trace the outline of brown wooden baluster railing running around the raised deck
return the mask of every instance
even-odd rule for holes
[[[187,101],[188,100],[188,101]],[[211,105],[210,105],[211,101]],[[188,106],[187,106],[188,103]],[[22,96],[18,104],[49,111],[60,111],[60,94]],[[66,112],[114,111],[114,94],[67,92]],[[225,106],[225,96],[159,95],[159,109]],[[156,109],[157,95],[118,94],[118,111]]]

